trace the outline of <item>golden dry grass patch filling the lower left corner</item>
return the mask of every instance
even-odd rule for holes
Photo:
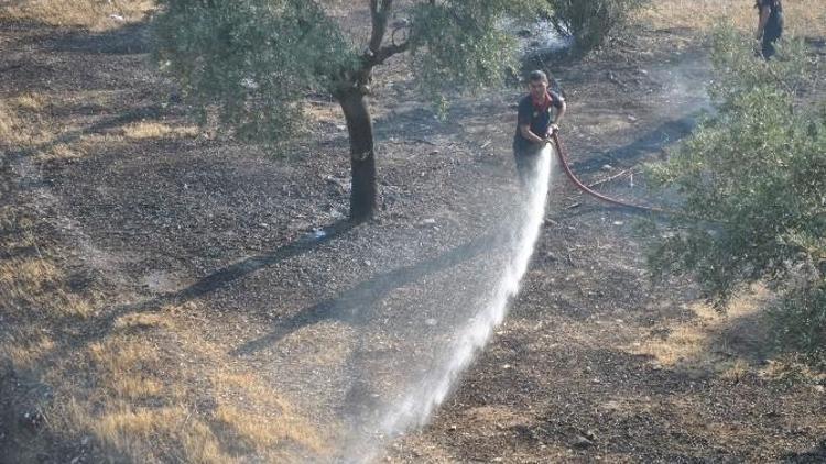
[[[94,303],[102,298],[70,290],[44,230],[23,207],[0,209],[0,311],[17,321],[0,331],[0,369],[51,391],[35,400],[25,388],[12,399],[23,411],[41,411],[39,427],[48,431],[32,437],[28,450],[47,449],[56,438],[91,440],[97,456],[110,462],[291,462],[324,454],[319,432],[290,400],[225,345],[204,340],[194,302],[121,314],[102,336],[85,341],[76,328],[106,317]],[[9,427],[29,437],[24,426]]]

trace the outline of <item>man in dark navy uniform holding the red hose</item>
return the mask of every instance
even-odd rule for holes
[[[565,99],[548,90],[547,75],[534,70],[528,78],[530,93],[519,102],[517,134],[513,136],[513,157],[522,185],[535,175],[540,153],[559,130],[565,115]]]

